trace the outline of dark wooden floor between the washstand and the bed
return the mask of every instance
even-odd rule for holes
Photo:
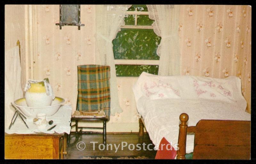
[[[74,135],[71,135],[70,143],[74,142]],[[85,143],[85,149],[84,150],[78,150],[77,143]],[[93,143],[90,142],[98,142],[95,143],[95,150],[93,150]],[[121,149],[122,142],[127,142],[127,146],[124,147],[124,149]],[[103,137],[102,134],[83,134],[82,137],[79,138],[78,141],[76,141],[74,144],[70,144],[67,148],[68,154],[67,159],[82,159],[83,157],[87,156],[146,156],[149,159],[154,159],[156,156],[156,151],[153,149],[153,144],[151,140],[148,137],[148,134],[145,133],[142,143],[145,143],[145,149],[147,149],[148,144],[152,144],[149,146],[150,149],[153,150],[143,150],[142,143],[139,142],[138,133],[127,133],[127,134],[107,134],[107,144],[112,144],[112,150],[107,150],[107,146],[105,147],[105,150],[99,150],[99,145],[103,143]],[[115,153],[116,148],[114,146],[118,146],[120,144],[118,151]],[[125,144],[125,143],[124,143]],[[133,151],[129,150],[128,145],[134,144],[135,149]],[[141,144],[141,150],[136,147],[136,144]],[[83,148],[83,143],[80,145],[81,148]],[[100,149],[103,149],[103,145],[100,145]],[[132,145],[130,147],[132,149]]]

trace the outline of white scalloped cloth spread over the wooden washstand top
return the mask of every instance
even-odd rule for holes
[[[14,124],[12,125],[11,129],[9,130],[8,127],[5,128],[5,132],[8,134],[35,134],[35,133],[70,133],[71,127],[71,112],[72,107],[71,105],[61,105],[59,110],[52,116],[47,116],[47,121],[53,121],[52,125],[47,125],[44,129],[36,129],[36,125],[33,123],[33,118],[25,116],[27,119],[25,119],[25,122],[28,125],[28,128],[26,127],[25,123],[22,122],[21,118],[18,116]],[[52,130],[47,130],[51,128],[52,126],[57,125]],[[9,126],[9,124],[8,124]]]

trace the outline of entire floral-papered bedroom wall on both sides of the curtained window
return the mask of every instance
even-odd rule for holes
[[[81,23],[85,26],[63,26],[59,29],[59,5],[31,5],[31,78],[48,77],[56,96],[66,99],[73,112],[76,110],[77,65],[95,64],[95,6],[81,5]],[[207,10],[210,7],[210,10]],[[229,17],[231,7],[232,17]],[[187,10],[192,10],[192,15]],[[245,17],[243,10],[245,9]],[[209,13],[212,12],[213,16]],[[241,73],[244,96],[250,104],[251,86],[251,8],[225,5],[181,5],[180,49],[181,74],[224,78]],[[197,24],[202,30],[197,30]],[[218,24],[221,29],[218,32]],[[219,24],[219,25],[220,25]],[[240,27],[240,31],[237,30]],[[247,33],[248,31],[248,33]],[[188,40],[187,40],[188,39]],[[208,42],[205,40],[208,39]],[[230,41],[230,47],[227,47]],[[243,39],[244,47],[241,47]],[[208,43],[208,46],[207,46]],[[189,46],[190,45],[190,46]],[[215,60],[215,55],[219,61]],[[236,62],[235,57],[238,57]],[[200,56],[200,59],[197,57]],[[247,63],[244,62],[244,57]],[[27,63],[29,65],[29,63]],[[187,68],[186,71],[185,68]],[[204,72],[204,69],[207,70]],[[226,75],[227,75],[226,74]],[[120,106],[124,112],[110,117],[107,132],[138,132],[138,114],[132,92],[137,78],[119,77],[117,87]],[[88,123],[86,123],[88,125]],[[84,126],[86,126],[84,125]],[[102,126],[93,123],[88,126]],[[74,130],[74,129],[72,129]]]

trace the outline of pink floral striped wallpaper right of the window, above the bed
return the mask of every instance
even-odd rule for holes
[[[241,78],[249,113],[251,19],[246,5],[181,5],[178,31],[181,74]]]

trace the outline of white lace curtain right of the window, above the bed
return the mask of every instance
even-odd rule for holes
[[[156,35],[161,36],[157,48],[158,75],[180,75],[179,14],[180,5],[147,5]]]

